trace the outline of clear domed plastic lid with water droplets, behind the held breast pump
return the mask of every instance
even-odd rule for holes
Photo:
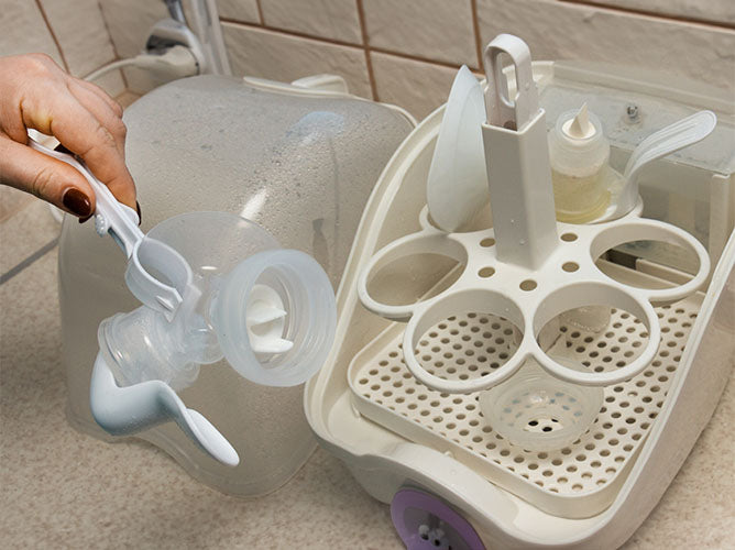
[[[260,88],[217,76],[157,88],[131,106],[124,121],[143,231],[185,212],[237,213],[262,226],[283,248],[314,256],[334,288],[373,185],[413,128],[401,111],[363,99],[279,85]],[[189,245],[185,235],[176,245]],[[242,245],[221,232],[210,242]],[[110,436],[89,409],[89,381],[99,323],[140,306],[125,286],[124,262],[113,241],[100,239],[89,223],[65,221],[59,299],[67,417],[77,429],[106,440]],[[303,385],[260,385],[222,360],[201,366],[178,395],[232,443],[240,464],[230,468],[207,457],[173,422],[140,437],[219,491],[268,493],[315,448]]]

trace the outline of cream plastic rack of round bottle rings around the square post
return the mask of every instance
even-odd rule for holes
[[[569,383],[607,386],[629,380],[645,370],[660,342],[654,305],[672,302],[694,293],[710,272],[706,251],[693,237],[670,224],[630,216],[596,226],[558,223],[558,244],[537,270],[498,261],[492,229],[446,233],[426,221],[418,233],[380,250],[361,274],[358,288],[369,310],[386,319],[408,321],[403,342],[406,366],[418,381],[439,392],[468,394],[487,389],[508,378],[531,358],[546,372]],[[693,253],[699,260],[698,273],[682,285],[649,289],[614,280],[595,265],[606,250],[643,239],[674,244]],[[463,263],[463,271],[448,288],[415,304],[386,305],[370,296],[368,283],[372,274],[392,262],[419,253],[447,255]],[[625,309],[646,327],[647,344],[627,364],[603,372],[570,369],[553,360],[538,343],[539,333],[559,315],[585,306]],[[503,365],[481,376],[447,380],[432,374],[416,356],[421,336],[443,319],[467,312],[495,315],[513,322],[523,333],[518,349]]]

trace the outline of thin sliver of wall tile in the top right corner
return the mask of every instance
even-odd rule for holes
[[[733,0],[582,0],[582,2],[735,24]]]

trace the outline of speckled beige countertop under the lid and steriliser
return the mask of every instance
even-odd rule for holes
[[[109,444],[72,429],[59,356],[59,226],[37,200],[7,188],[0,199],[1,548],[402,548],[388,507],[321,449],[281,490],[240,501],[147,443]],[[731,382],[624,548],[733,548],[734,416]]]

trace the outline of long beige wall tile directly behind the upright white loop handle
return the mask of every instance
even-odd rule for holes
[[[735,31],[547,0],[478,0],[483,44],[507,32],[535,59],[661,70],[735,90]]]

